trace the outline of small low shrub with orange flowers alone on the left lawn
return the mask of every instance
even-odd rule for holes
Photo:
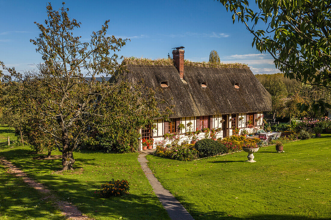
[[[100,197],[109,198],[111,196],[123,196],[125,193],[129,191],[129,182],[122,180],[114,180],[112,179],[108,183],[104,183],[101,185],[100,189],[97,189],[94,193],[97,193]]]

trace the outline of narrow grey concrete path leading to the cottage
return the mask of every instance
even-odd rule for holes
[[[143,169],[149,183],[153,187],[154,193],[158,196],[163,207],[165,207],[168,212],[169,217],[172,220],[194,220],[194,218],[188,213],[180,202],[155,178],[152,170],[147,166],[147,159],[145,158],[147,154],[141,153],[138,156],[138,161]]]

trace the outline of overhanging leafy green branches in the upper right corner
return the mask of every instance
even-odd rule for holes
[[[256,0],[253,11],[248,0],[218,0],[233,13],[233,23],[245,24],[261,53],[274,58],[286,77],[325,87],[331,91],[331,2],[317,0]],[[264,26],[264,29],[257,29]],[[314,110],[331,106],[325,100],[310,103]],[[302,111],[307,110],[303,104]]]

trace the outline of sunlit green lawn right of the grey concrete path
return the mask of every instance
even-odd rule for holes
[[[147,156],[155,176],[198,219],[331,219],[331,135],[180,162]]]

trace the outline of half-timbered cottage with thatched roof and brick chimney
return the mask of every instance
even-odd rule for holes
[[[167,104],[174,105],[171,121],[155,119],[157,129],[143,128],[142,138],[159,141],[166,133],[177,132],[183,141],[188,138],[185,132],[203,128],[221,128],[217,137],[226,137],[233,127],[252,132],[249,120],[249,127],[262,125],[260,116],[271,110],[271,96],[247,65],[188,62],[182,47],[174,48],[172,55],[173,61],[149,60],[147,64],[141,59],[124,60],[128,81],[143,79],[147,87],[162,89]],[[185,127],[181,131],[179,124]],[[201,132],[198,138],[203,136]]]

